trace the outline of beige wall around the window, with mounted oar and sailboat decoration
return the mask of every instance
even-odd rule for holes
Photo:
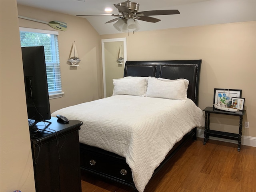
[[[67,23],[66,31],[58,30],[62,90],[65,94],[62,98],[50,100],[51,112],[66,106],[103,98],[101,40],[86,19],[22,5],[18,5],[18,14],[47,22],[57,20]],[[47,24],[21,18],[19,18],[19,25],[55,30]],[[70,67],[67,64],[74,41],[81,59],[78,67]]]

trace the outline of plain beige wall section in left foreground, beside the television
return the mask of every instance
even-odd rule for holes
[[[0,191],[34,192],[16,1],[0,1]]]

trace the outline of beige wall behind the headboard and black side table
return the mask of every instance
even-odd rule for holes
[[[214,88],[242,89],[244,121],[250,122],[242,134],[256,137],[255,21],[101,36],[122,37],[127,37],[127,60],[202,59],[199,107],[212,106]],[[211,116],[211,128],[238,133],[238,117]]]

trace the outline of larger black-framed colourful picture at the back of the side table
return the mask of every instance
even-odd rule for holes
[[[217,102],[222,102],[223,104],[227,104],[227,106],[230,106],[232,104],[232,97],[241,98],[242,90],[214,88],[213,104],[217,104]]]

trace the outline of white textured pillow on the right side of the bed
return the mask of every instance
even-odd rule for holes
[[[186,102],[189,81],[186,79],[148,78],[146,97],[176,99]]]

